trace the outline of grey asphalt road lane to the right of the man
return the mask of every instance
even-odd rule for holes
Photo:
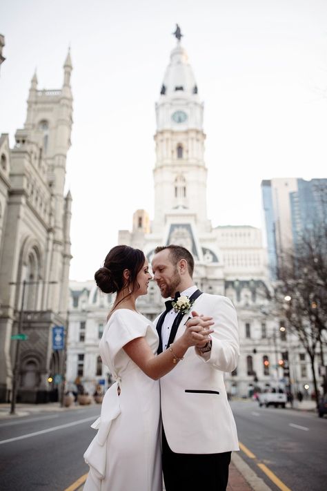
[[[278,490],[259,468],[263,463],[292,491],[327,489],[327,418],[314,412],[259,407],[248,401],[232,402],[242,459],[270,486]]]

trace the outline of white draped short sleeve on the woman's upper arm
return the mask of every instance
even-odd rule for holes
[[[106,333],[106,345],[113,360],[123,346],[136,338],[146,336],[146,319],[127,309],[115,312]]]

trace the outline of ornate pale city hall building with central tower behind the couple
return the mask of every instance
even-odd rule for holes
[[[310,380],[308,360],[268,300],[268,259],[261,230],[246,225],[212,227],[208,217],[204,104],[179,39],[170,53],[155,112],[155,214],[150,220],[145,210],[135,211],[132,229],[119,231],[118,243],[142,249],[149,262],[158,245],[180,244],[195,258],[197,287],[232,300],[239,319],[241,356],[235,372],[226,374],[230,394],[249,396],[255,388],[284,387],[279,360],[286,353],[293,383],[302,386]],[[98,345],[111,301],[93,281],[70,282],[67,378],[71,387],[77,376],[89,392],[99,381],[108,383]],[[150,282],[148,295],[138,300],[139,310],[153,320],[163,306],[159,288]]]

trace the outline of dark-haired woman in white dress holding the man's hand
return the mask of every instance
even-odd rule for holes
[[[92,425],[98,432],[84,454],[90,466],[84,491],[162,490],[159,378],[212,332],[210,317],[193,317],[157,356],[157,331],[135,307],[151,279],[143,252],[125,245],[113,247],[95,273],[101,291],[117,293],[99,345],[115,383]]]

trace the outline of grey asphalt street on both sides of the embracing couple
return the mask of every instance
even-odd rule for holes
[[[271,490],[326,489],[327,418],[314,412],[260,408],[232,401],[241,452]],[[88,472],[83,452],[95,431],[98,405],[42,411],[0,420],[0,482],[3,491],[63,491]],[[268,468],[287,488],[277,487]],[[260,467],[261,466],[261,467]]]

